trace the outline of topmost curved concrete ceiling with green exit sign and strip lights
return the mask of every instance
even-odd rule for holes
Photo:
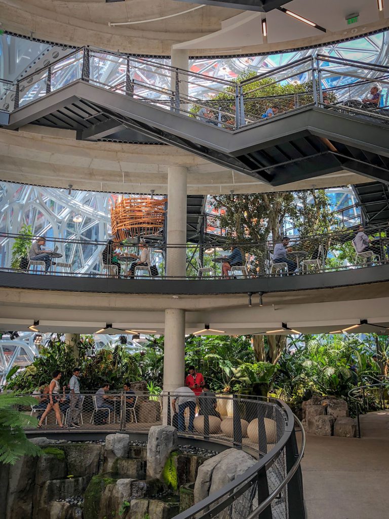
[[[174,46],[204,56],[321,46],[353,38],[389,25],[385,4],[382,11],[377,0],[293,0],[284,5],[315,26],[277,9],[265,15],[173,0],[0,0],[0,9],[2,29],[51,42],[163,56]],[[358,20],[348,24],[346,18],[355,13]],[[265,16],[267,35],[261,29]]]

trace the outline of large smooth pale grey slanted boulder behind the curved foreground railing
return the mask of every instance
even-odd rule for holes
[[[255,458],[234,448],[224,450],[217,456],[205,461],[197,473],[193,493],[195,503],[220,490],[255,463],[257,463]],[[247,501],[235,502],[229,518],[240,519],[245,517],[251,511],[249,507],[251,507],[251,503],[247,503]]]

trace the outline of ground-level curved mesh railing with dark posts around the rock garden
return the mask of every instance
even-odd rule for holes
[[[42,434],[57,432],[68,440],[73,432],[147,434],[166,416],[164,423],[177,428],[180,438],[242,449],[258,459],[243,474],[175,519],[305,517],[300,468],[305,434],[300,421],[280,400],[225,393],[196,397],[193,393],[192,400],[181,405],[179,398],[187,399],[187,393],[156,395],[132,388],[109,391],[107,385],[75,394],[66,386],[51,395],[42,389],[32,394],[35,405],[17,406],[19,412],[38,418],[38,432]],[[299,449],[296,425],[301,431]],[[36,424],[31,422],[26,430],[35,432]]]

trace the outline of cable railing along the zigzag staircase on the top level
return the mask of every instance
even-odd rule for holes
[[[108,76],[107,62],[113,66]],[[89,47],[73,50],[16,83],[0,87],[0,110],[15,111],[75,81],[224,130],[267,124],[274,117],[312,106],[384,124],[389,120],[388,95],[384,95],[389,67],[385,65],[317,54],[245,80],[229,81]],[[201,97],[191,93],[199,88]]]

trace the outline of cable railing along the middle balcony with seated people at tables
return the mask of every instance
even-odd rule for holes
[[[360,232],[358,228],[345,227],[328,234],[290,235],[274,241],[229,239],[225,244],[171,244],[165,242],[163,235],[123,242],[115,238],[112,242],[46,238],[43,252],[31,255],[31,245],[37,238],[1,233],[0,272],[121,278],[123,283],[132,279],[209,281],[315,275],[389,262],[389,225],[368,226]],[[15,240],[25,240],[25,252],[11,264]],[[143,241],[146,252],[142,253]],[[87,257],[87,269],[77,267],[79,254]],[[177,257],[186,263],[185,275],[168,268]]]

